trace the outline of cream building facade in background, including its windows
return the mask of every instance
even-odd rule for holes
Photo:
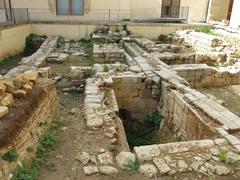
[[[4,0],[0,0],[4,1]],[[8,0],[5,0],[8,1]],[[188,19],[204,22],[208,0],[9,0],[15,18],[32,21]],[[24,14],[24,11],[27,11]],[[27,17],[26,17],[27,16]],[[18,19],[16,19],[18,20]]]

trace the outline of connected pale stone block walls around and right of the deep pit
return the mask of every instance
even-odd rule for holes
[[[116,57],[114,65],[108,64],[108,72],[94,65],[94,75],[87,79],[85,89],[87,126],[105,134],[110,145],[121,146],[123,151],[116,156],[116,164],[105,150],[107,146],[98,152],[79,154],[86,175],[117,174],[118,166],[125,169],[131,161],[138,161],[139,173],[148,177],[184,172],[206,176],[233,173],[218,155],[226,151],[228,161],[240,160],[240,118],[193,88],[239,85],[239,72],[209,66],[234,57],[216,52],[221,45],[210,35],[182,34],[176,33],[175,44],[156,44],[139,36],[130,36],[130,41],[122,38],[126,60],[119,62],[123,64]],[[94,57],[98,63],[98,56]],[[180,142],[134,147],[130,152],[126,137],[120,135],[124,132],[120,109],[140,121],[158,110],[165,117],[162,125],[171,125]],[[99,161],[92,161],[92,156]]]

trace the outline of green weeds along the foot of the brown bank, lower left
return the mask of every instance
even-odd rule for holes
[[[40,144],[37,148],[36,158],[33,160],[32,164],[23,162],[22,165],[18,165],[13,172],[12,180],[36,180],[39,176],[39,171],[43,162],[46,162],[46,166],[54,170],[55,165],[47,161],[49,153],[57,148],[57,135],[53,131],[59,125],[54,128],[50,128],[42,138],[40,139]]]

